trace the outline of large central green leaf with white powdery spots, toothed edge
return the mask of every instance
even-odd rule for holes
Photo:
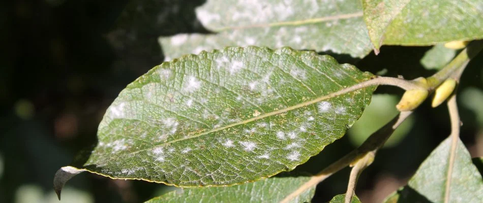
[[[374,86],[338,91],[372,76],[290,48],[186,55],[119,93],[99,125],[98,145],[77,168],[177,186],[273,176],[344,135]]]

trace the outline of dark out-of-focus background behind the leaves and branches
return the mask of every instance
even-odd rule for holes
[[[55,171],[96,141],[97,125],[118,92],[164,60],[158,37],[208,33],[194,9],[203,1],[16,0],[0,3],[0,202],[57,202]],[[363,71],[413,79],[435,73],[456,53],[434,47],[383,46],[363,59],[335,56]],[[460,86],[461,139],[483,156],[483,54]],[[379,87],[363,117],[295,171],[317,173],[396,115],[402,91]],[[406,121],[361,175],[356,193],[381,201],[404,185],[450,132],[445,105],[429,101]],[[319,184],[315,201],[344,193],[349,170]],[[70,202],[140,202],[173,187],[81,174],[63,190]]]

